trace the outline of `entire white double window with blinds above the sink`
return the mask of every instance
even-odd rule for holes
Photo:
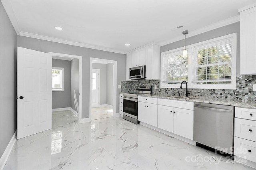
[[[161,88],[236,89],[236,33],[186,47],[161,53]]]

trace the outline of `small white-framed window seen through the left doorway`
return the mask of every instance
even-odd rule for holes
[[[64,91],[64,68],[52,67],[52,91]]]

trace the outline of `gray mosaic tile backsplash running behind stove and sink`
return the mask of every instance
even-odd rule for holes
[[[256,91],[252,85],[256,84],[256,75],[236,77],[236,90],[226,89],[188,89],[190,96],[202,99],[222,99],[241,102],[256,102]],[[157,85],[158,89],[154,89]],[[186,88],[160,88],[160,80],[121,81],[121,93],[135,92],[136,86],[152,86],[152,95],[178,95],[185,96]],[[185,84],[183,85],[185,87]]]

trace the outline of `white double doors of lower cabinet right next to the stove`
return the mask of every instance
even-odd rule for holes
[[[157,105],[139,101],[138,121],[157,127]]]

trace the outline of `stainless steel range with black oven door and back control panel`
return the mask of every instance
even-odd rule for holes
[[[123,119],[135,124],[139,124],[138,121],[138,95],[150,95],[150,86],[137,86],[135,93],[124,93],[124,109]]]

